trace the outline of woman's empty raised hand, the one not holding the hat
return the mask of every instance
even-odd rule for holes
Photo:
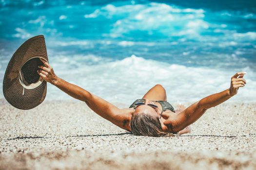
[[[243,76],[246,72],[237,72],[233,77],[231,77],[231,85],[229,88],[229,94],[231,96],[236,95],[239,87],[244,87],[246,81],[243,79]]]

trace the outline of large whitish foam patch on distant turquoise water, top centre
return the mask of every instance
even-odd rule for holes
[[[84,17],[119,18],[113,24],[114,28],[110,34],[112,37],[119,37],[138,30],[148,32],[148,34],[153,34],[155,30],[158,30],[163,35],[171,36],[179,33],[198,35],[201,29],[208,29],[209,25],[203,20],[204,13],[202,9],[179,8],[165,3],[152,2],[123,6],[108,4]],[[184,27],[184,25],[187,26]]]

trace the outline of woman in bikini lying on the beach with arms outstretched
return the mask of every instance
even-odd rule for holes
[[[141,136],[172,136],[191,131],[189,125],[199,119],[207,109],[225,102],[236,95],[239,87],[246,81],[243,79],[245,72],[237,72],[231,78],[230,88],[219,93],[207,96],[188,108],[180,107],[174,110],[166,101],[166,92],[161,85],[155,85],[142,99],[136,100],[129,108],[119,109],[115,105],[87,90],[66,82],[59,78],[53,68],[44,60],[44,66],[39,66],[38,74],[68,95],[86,102],[86,104],[99,116],[107,119],[122,129]]]

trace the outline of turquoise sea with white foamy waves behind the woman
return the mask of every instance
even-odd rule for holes
[[[254,0],[1,0],[0,99],[5,69],[28,38],[45,36],[62,79],[130,104],[156,84],[169,102],[196,102],[247,85],[230,102],[256,102]],[[72,100],[48,84],[46,100]]]

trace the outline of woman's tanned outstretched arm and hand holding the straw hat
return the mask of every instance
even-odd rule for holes
[[[107,119],[119,126],[122,129],[130,130],[128,124],[126,123],[128,118],[127,114],[130,112],[129,109],[119,109],[110,102],[88,92],[87,90],[79,87],[78,85],[73,85],[66,82],[65,80],[59,78],[54,73],[53,68],[45,61],[41,60],[44,66],[39,66],[41,70],[38,74],[46,81],[55,86],[60,90],[72,96],[75,99],[86,102],[86,104],[99,116]]]

